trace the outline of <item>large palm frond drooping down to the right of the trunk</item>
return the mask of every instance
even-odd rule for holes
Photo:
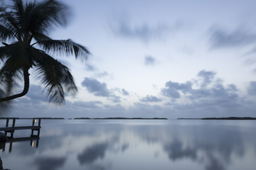
[[[64,91],[70,94],[78,91],[68,67],[40,50],[35,49],[33,54],[35,55],[36,74],[47,90],[49,101],[57,104],[65,103]]]

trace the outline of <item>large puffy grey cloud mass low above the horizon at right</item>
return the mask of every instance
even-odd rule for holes
[[[203,77],[203,81],[199,81]],[[200,82],[200,84],[198,84]],[[238,96],[238,89],[234,84],[224,85],[215,78],[214,72],[201,71],[196,81],[185,84],[168,81],[162,94],[171,100],[181,98],[183,103],[173,102],[169,105],[176,113],[235,113],[238,108],[244,108],[245,101]],[[171,104],[171,103],[170,103]]]

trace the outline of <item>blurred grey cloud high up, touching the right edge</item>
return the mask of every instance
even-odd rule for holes
[[[233,31],[226,31],[222,28],[213,28],[210,31],[210,43],[213,48],[221,47],[243,47],[245,45],[254,45],[256,42],[256,33],[238,28]]]

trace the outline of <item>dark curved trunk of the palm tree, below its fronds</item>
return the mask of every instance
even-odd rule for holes
[[[29,89],[29,75],[30,74],[28,73],[28,69],[23,68],[24,89],[21,92],[21,94],[15,94],[13,96],[9,96],[9,97],[6,97],[6,98],[0,98],[0,102],[11,101],[14,98],[19,98],[19,97],[25,96],[28,93],[28,89]]]

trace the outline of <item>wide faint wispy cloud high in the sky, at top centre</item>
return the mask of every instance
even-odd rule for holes
[[[183,26],[181,21],[170,25],[159,23],[156,26],[149,26],[148,23],[144,23],[140,26],[132,26],[127,19],[117,22],[111,25],[112,32],[115,35],[122,36],[124,38],[134,38],[142,40],[142,42],[149,42],[151,40],[164,38],[171,32],[179,30]]]

